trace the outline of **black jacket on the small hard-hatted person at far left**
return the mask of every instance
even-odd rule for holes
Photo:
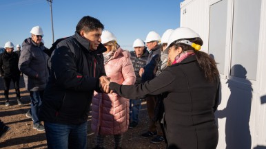
[[[8,54],[6,50],[0,55],[0,73],[5,77],[19,76],[19,56],[12,52]]]

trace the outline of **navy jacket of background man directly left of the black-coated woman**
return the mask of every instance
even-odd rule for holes
[[[141,81],[146,82],[152,80],[156,76],[157,65],[161,56],[161,45],[157,45],[152,49],[147,58],[146,66],[144,67],[144,73],[141,76]]]

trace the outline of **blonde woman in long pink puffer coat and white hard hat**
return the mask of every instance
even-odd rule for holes
[[[106,76],[112,82],[132,85],[136,76],[130,60],[130,52],[125,51],[116,43],[111,32],[104,30],[101,35],[107,51],[103,54]],[[92,99],[92,131],[97,135],[96,147],[103,148],[105,135],[114,135],[115,148],[121,148],[123,133],[129,125],[129,99],[122,98],[116,93],[96,93]]]

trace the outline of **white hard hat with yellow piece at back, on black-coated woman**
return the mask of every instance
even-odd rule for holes
[[[176,30],[174,30],[174,32],[172,32],[172,34],[170,34],[170,37],[168,38],[168,42],[167,42],[167,47],[165,48],[165,50],[163,52],[165,54],[168,54],[169,46],[174,42],[184,43],[186,45],[190,45],[190,46],[194,47],[194,49],[196,49],[196,50],[200,50],[201,45],[197,45],[196,43],[192,43],[192,42],[186,40],[188,38],[196,38],[196,37],[201,38],[196,32],[194,32],[194,30],[191,30],[190,28],[187,28],[187,27],[176,28]],[[181,40],[181,39],[183,39],[183,40]]]

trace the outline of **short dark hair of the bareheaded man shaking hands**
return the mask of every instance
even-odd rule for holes
[[[90,32],[92,30],[104,29],[103,24],[92,16],[83,16],[83,18],[76,25],[76,32],[79,34],[81,30],[85,32]]]

